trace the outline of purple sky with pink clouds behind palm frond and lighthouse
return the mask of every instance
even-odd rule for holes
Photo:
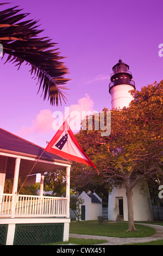
[[[54,111],[64,113],[65,106],[79,111],[110,109],[108,84],[120,56],[130,67],[136,89],[163,79],[163,57],[158,55],[163,43],[162,0],[13,0],[7,8],[15,5],[30,13],[28,19],[40,20],[42,36],[58,42],[60,56],[67,57],[66,77],[72,80],[67,83],[66,105],[52,107],[37,94],[29,66],[17,71],[1,60],[2,129],[46,147],[56,132]]]

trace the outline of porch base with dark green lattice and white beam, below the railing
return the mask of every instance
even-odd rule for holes
[[[0,245],[42,245],[68,241],[70,218],[0,218]]]

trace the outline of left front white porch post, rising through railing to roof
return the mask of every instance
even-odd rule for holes
[[[18,185],[18,174],[19,174],[19,168],[20,168],[20,158],[16,158],[15,160],[15,172],[14,172],[14,182],[13,182],[13,187],[12,187],[12,204],[11,204],[11,218],[15,218],[15,205],[17,202],[17,185]]]

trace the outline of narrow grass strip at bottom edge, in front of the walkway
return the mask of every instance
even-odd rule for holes
[[[68,245],[71,243],[72,245],[97,245],[98,243],[105,243],[106,240],[99,239],[79,239],[74,237],[69,237],[67,242],[57,242],[57,243],[49,243],[48,245]]]

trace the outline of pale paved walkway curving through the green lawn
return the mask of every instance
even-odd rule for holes
[[[142,223],[137,223],[142,224]],[[124,245],[124,243],[138,243],[138,242],[149,242],[154,240],[163,240],[163,226],[161,225],[153,225],[153,224],[142,224],[147,225],[156,229],[156,233],[151,236],[147,237],[126,237],[126,238],[119,238],[119,237],[109,237],[109,236],[98,236],[98,235],[78,235],[78,234],[70,234],[70,237],[77,237],[77,238],[85,238],[85,239],[104,239],[108,242],[106,243],[99,243],[98,245]]]

